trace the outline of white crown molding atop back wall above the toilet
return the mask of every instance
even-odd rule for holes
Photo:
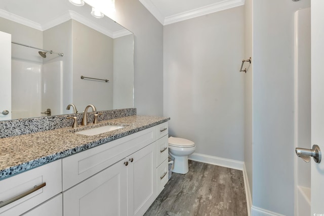
[[[191,11],[175,14],[164,19],[163,25],[169,25],[175,22],[223,11],[230,8],[235,8],[245,4],[245,0],[225,0],[219,3],[208,5],[205,7],[197,8]]]

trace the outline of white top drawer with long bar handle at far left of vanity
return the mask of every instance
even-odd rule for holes
[[[30,191],[34,186],[46,185],[0,208],[0,215],[20,215],[62,191],[62,161],[39,166],[0,181],[0,200],[6,201]]]

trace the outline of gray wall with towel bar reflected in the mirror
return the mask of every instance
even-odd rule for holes
[[[82,75],[112,80],[113,39],[72,20],[72,101],[80,112],[88,104],[112,109],[113,82],[80,79]]]

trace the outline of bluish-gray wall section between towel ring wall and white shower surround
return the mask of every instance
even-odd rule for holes
[[[309,6],[253,1],[252,202],[284,215],[294,215],[294,13]]]

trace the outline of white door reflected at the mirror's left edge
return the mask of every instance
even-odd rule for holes
[[[11,119],[11,34],[0,31],[0,121]]]

